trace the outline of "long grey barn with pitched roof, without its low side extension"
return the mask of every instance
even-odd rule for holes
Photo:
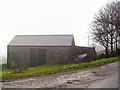
[[[74,62],[73,35],[16,35],[7,46],[8,68]]]

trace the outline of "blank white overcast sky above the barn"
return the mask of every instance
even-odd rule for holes
[[[112,0],[1,0],[0,56],[15,35],[73,34],[76,45],[87,46],[90,23]]]

